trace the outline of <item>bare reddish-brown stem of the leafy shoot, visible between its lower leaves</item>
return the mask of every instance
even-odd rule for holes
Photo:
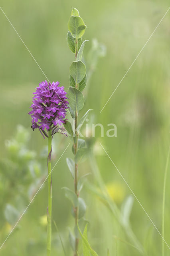
[[[78,147],[78,138],[79,138],[79,134],[76,131],[77,129],[77,121],[78,121],[78,112],[75,112],[75,143],[74,143],[74,155],[76,155],[77,153],[77,147]],[[77,183],[78,183],[78,164],[75,163],[75,179],[74,179],[74,191],[75,194],[77,196],[77,198],[79,197],[79,192],[77,191]],[[76,206],[74,208],[74,212],[75,212],[75,229],[77,229],[77,220],[78,220],[78,207]],[[75,252],[74,252],[74,256],[77,256],[77,250],[78,250],[78,245],[79,245],[79,238],[75,238]]]

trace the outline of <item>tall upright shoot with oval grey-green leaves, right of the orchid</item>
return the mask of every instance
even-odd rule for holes
[[[75,234],[73,235],[70,231],[69,237],[71,247],[73,248],[74,256],[77,256],[79,244],[79,230],[77,224],[79,223],[79,219],[83,218],[86,212],[86,204],[83,198],[79,197],[80,190],[83,186],[83,178],[81,177],[80,179],[78,179],[78,166],[79,163],[82,162],[84,155],[87,151],[87,148],[85,146],[85,140],[79,139],[79,132],[83,122],[89,114],[89,110],[79,121],[79,111],[84,106],[84,96],[82,91],[87,83],[86,67],[81,59],[85,43],[88,40],[82,42],[81,37],[85,32],[86,26],[83,22],[83,19],[79,16],[78,10],[75,8],[72,8],[71,17],[69,18],[68,22],[68,28],[69,32],[67,33],[67,44],[70,50],[75,54],[75,61],[73,61],[70,66],[70,87],[67,92],[73,126],[68,121],[64,124],[64,126],[73,142],[72,151],[74,154],[74,160],[72,160],[71,158],[67,158],[67,165],[74,179],[74,192],[69,188],[64,189],[65,196],[71,201],[73,205],[73,216],[75,218]]]

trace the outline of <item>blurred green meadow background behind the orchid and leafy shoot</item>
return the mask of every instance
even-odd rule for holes
[[[66,90],[69,88],[69,66],[74,58],[66,42],[67,21],[71,15],[71,7],[79,10],[87,25],[83,36],[84,40],[89,39],[84,53],[87,64],[91,61],[88,59],[88,52],[93,38],[97,38],[106,46],[107,54],[99,58],[93,70],[88,84],[89,90],[85,92],[85,108],[80,114],[83,115],[86,110],[92,108],[94,122],[102,123],[105,131],[107,124],[117,125],[117,138],[108,138],[106,132],[104,138],[101,138],[100,130],[97,129],[95,139],[87,140],[89,145],[94,144],[94,157],[80,166],[79,174],[81,176],[92,172],[88,180],[93,186],[97,186],[94,175],[97,164],[113,205],[122,208],[131,192],[102,150],[99,144],[101,142],[161,232],[163,180],[170,142],[170,11],[107,106],[101,114],[99,112],[168,10],[169,1],[1,0],[0,6],[47,78],[50,81],[59,81]],[[10,207],[6,204],[16,206],[18,194],[22,194],[22,197],[28,194],[30,180],[35,178],[40,182],[41,177],[46,174],[45,153],[43,154],[42,150],[47,140],[43,140],[37,130],[32,132],[31,118],[27,114],[32,103],[32,93],[45,77],[1,10],[0,37],[2,159],[0,244],[2,244],[13,226],[5,216],[5,212],[8,212]],[[16,134],[18,124],[26,128],[24,130],[19,126],[19,135]],[[10,140],[10,144],[6,140]],[[53,165],[69,143],[69,138],[63,136],[61,138],[58,134],[54,142]],[[23,145],[26,143],[25,148]],[[11,144],[14,144],[14,147],[9,146]],[[57,223],[69,256],[72,252],[68,239],[68,226],[73,228],[74,219],[70,214],[71,204],[61,190],[63,186],[73,188],[73,180],[65,161],[68,156],[72,156],[71,146],[53,170],[53,219]],[[37,166],[37,169],[34,168],[37,170],[35,177],[34,175],[27,177],[30,165]],[[168,244],[170,243],[169,178],[168,173],[165,200],[165,240]],[[38,186],[38,184],[34,185]],[[113,212],[92,190],[87,185],[82,191],[82,197],[87,203],[86,218],[90,223],[88,236],[91,246],[99,256],[107,255],[107,248],[110,255],[114,256],[141,255],[130,245],[132,244],[130,235],[125,234]],[[25,204],[28,205],[26,202]],[[43,216],[46,208],[47,183],[0,250],[0,255],[45,255],[46,227]],[[23,209],[21,207],[19,210],[20,214]],[[136,200],[130,214],[130,226],[136,235],[135,239],[140,241],[147,255],[161,255],[162,239]],[[64,255],[54,225],[52,255]],[[166,245],[164,255],[169,255]]]

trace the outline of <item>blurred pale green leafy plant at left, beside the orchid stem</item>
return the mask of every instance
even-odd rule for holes
[[[17,222],[44,175],[44,170],[37,161],[36,152],[28,149],[30,132],[18,125],[16,134],[5,143],[8,158],[0,161],[2,224],[5,220],[11,225]]]

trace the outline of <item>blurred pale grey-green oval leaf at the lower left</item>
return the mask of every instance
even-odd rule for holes
[[[14,225],[16,224],[17,220],[20,217],[20,213],[18,212],[18,210],[16,210],[16,208],[14,206],[12,206],[11,204],[7,204],[4,210],[4,215],[6,220],[11,224]]]

